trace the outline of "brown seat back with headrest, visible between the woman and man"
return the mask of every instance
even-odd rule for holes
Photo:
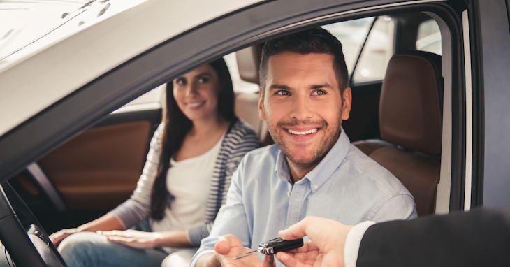
[[[262,45],[252,45],[235,52],[239,75],[242,80],[258,85],[258,68],[261,62]],[[258,94],[235,94],[235,114],[250,124],[261,140],[261,145],[272,144],[268,127],[258,117]]]

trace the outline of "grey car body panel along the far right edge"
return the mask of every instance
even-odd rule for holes
[[[483,196],[483,205],[504,207],[510,205],[510,24],[504,0],[476,1],[475,23],[479,27],[479,46],[474,50],[481,62],[474,66],[481,77],[474,87],[479,138],[474,173],[483,173],[483,187],[474,187],[474,196]],[[508,4],[508,1],[507,1]],[[481,96],[481,97],[480,97]],[[483,189],[483,192],[476,190]],[[480,194],[481,193],[481,194]]]

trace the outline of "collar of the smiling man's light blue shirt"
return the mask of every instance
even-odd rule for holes
[[[319,189],[321,185],[330,178],[330,176],[337,170],[337,168],[344,161],[347,152],[349,151],[349,145],[351,144],[349,137],[345,133],[344,129],[340,132],[340,136],[337,139],[337,142],[331,149],[328,154],[315,166],[315,168],[305,175],[305,179],[309,180],[310,186],[312,187],[312,192],[315,192],[316,189]],[[275,164],[275,173],[279,179],[282,179],[286,182],[291,182],[291,174],[289,171],[289,166],[287,165],[287,161],[285,160],[285,154],[282,150],[278,150],[278,155],[276,158]]]

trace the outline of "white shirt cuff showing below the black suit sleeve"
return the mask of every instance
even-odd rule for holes
[[[360,243],[365,231],[368,227],[375,224],[375,222],[366,221],[356,224],[351,231],[347,233],[344,244],[344,263],[345,267],[356,267],[358,261],[358,251],[360,250]]]

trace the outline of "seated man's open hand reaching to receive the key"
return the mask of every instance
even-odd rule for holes
[[[219,238],[216,245],[214,245],[214,250],[216,251],[215,257],[217,261],[224,267],[275,266],[275,259],[273,256],[265,256],[264,261],[258,259],[256,254],[241,259],[233,259],[235,256],[252,251],[248,247],[243,246],[241,240],[239,240],[237,236],[222,236]]]

